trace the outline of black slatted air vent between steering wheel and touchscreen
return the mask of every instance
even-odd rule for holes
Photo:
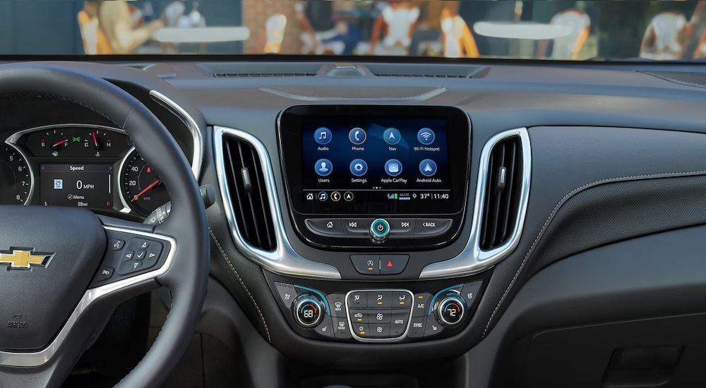
[[[223,138],[225,176],[238,229],[246,243],[272,251],[275,227],[260,157],[252,145]]]

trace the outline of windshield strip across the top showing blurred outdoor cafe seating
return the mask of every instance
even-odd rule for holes
[[[706,56],[703,1],[1,1],[0,54]]]

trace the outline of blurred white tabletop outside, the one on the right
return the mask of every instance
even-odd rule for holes
[[[500,37],[505,39],[549,40],[569,35],[572,30],[566,25],[555,25],[532,22],[478,22],[473,30],[485,37]]]

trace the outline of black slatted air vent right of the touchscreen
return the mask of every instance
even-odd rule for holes
[[[488,161],[481,224],[481,250],[491,250],[510,238],[520,211],[522,140],[514,135],[496,144]]]

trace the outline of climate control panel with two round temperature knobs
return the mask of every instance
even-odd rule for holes
[[[390,343],[447,337],[469,321],[483,280],[436,292],[361,288],[325,293],[273,281],[273,291],[292,326],[319,339]]]

